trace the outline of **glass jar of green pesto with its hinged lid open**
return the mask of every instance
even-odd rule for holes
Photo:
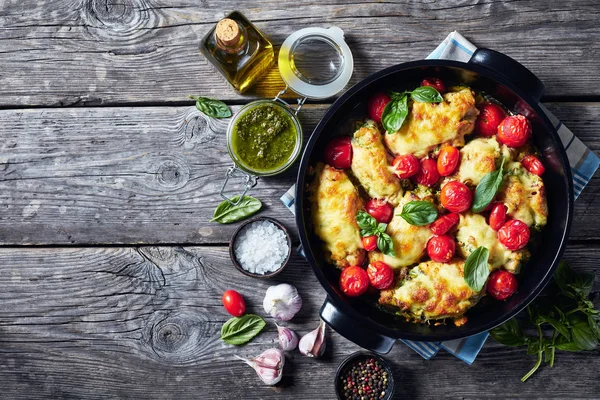
[[[227,128],[227,149],[235,165],[227,171],[220,194],[234,205],[258,177],[280,174],[298,159],[303,137],[298,112],[307,99],[326,99],[344,89],[352,76],[352,52],[340,28],[306,28],[285,40],[278,66],[285,89],[272,100],[242,107]],[[301,96],[296,108],[281,98],[288,89]],[[236,177],[245,179],[244,192],[229,198],[225,189]]]

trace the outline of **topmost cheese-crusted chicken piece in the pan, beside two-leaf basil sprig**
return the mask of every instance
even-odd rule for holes
[[[479,111],[468,88],[443,95],[441,103],[412,103],[398,132],[387,132],[384,141],[396,155],[412,153],[424,157],[435,146],[449,142],[464,145],[464,136],[473,132]]]

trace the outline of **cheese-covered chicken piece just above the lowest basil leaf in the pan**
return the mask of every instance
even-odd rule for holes
[[[465,259],[477,247],[484,246],[490,251],[488,262],[490,268],[504,268],[507,271],[518,273],[521,264],[529,259],[527,248],[510,251],[498,241],[498,234],[479,214],[466,213],[461,215],[456,234],[458,241],[457,250]]]

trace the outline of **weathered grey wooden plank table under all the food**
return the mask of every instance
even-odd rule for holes
[[[64,0],[0,1],[0,397],[252,399],[334,397],[333,374],[357,346],[330,331],[313,360],[295,352],[278,387],[234,354],[276,346],[275,326],[244,347],[218,340],[224,290],[263,314],[264,291],[291,282],[305,300],[292,326],[318,321],[325,292],[296,257],[272,282],[231,265],[237,225],[210,223],[231,161],[226,121],[189,94],[236,109],[283,87],[273,69],[240,96],[201,57],[208,29],[242,10],[275,44],[306,26],[341,27],[356,83],[425,57],[452,30],[521,61],[546,84],[545,105],[600,151],[600,6],[596,1]],[[310,133],[328,103],[302,111]],[[296,232],[279,197],[295,170],[261,179],[262,215]],[[575,208],[565,258],[600,269],[600,178]],[[295,238],[297,240],[297,237]],[[490,339],[472,366],[440,352],[387,356],[398,398],[600,397],[598,351],[534,360]]]

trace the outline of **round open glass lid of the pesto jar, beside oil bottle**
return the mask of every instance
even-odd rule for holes
[[[292,33],[279,50],[279,73],[294,92],[325,99],[341,92],[354,68],[352,52],[338,27]]]

